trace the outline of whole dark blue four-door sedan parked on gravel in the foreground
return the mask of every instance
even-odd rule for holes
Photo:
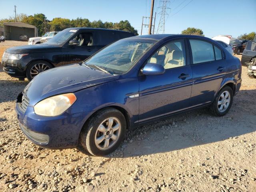
[[[241,86],[241,63],[201,36],[119,40],[79,64],[36,76],[18,95],[23,133],[44,148],[114,151],[127,129],[208,107],[225,115]]]

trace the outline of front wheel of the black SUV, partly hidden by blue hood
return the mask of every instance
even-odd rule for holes
[[[51,69],[52,65],[44,60],[37,60],[29,64],[26,69],[26,77],[28,80],[32,80],[37,74],[45,70]],[[37,74],[36,74],[37,71]]]

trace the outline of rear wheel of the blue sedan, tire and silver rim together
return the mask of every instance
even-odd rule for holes
[[[233,90],[225,86],[220,90],[214,102],[210,106],[210,112],[215,116],[224,116],[230,110],[233,102]]]

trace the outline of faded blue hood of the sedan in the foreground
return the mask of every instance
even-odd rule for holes
[[[34,106],[40,100],[50,96],[76,92],[118,78],[120,78],[119,75],[106,74],[79,64],[71,64],[40,73],[26,86],[24,93],[30,100],[29,104]]]

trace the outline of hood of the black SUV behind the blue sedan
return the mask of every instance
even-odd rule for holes
[[[6,53],[38,53],[38,52],[54,52],[60,51],[59,46],[49,44],[23,45],[11,47],[6,50]]]

